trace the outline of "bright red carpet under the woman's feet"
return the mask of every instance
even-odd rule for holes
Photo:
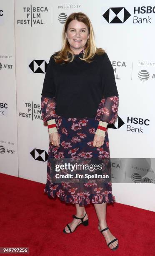
[[[29,247],[30,256],[155,255],[155,212],[119,203],[107,205],[107,224],[119,240],[117,251],[110,251],[97,230],[92,205],[86,207],[87,227],[80,225],[75,233],[62,233],[75,208],[58,198],[50,200],[44,187],[0,174],[0,247]]]

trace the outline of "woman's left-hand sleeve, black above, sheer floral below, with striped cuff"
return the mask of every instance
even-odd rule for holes
[[[49,134],[57,132],[55,122],[55,84],[52,61],[54,61],[54,59],[51,56],[46,69],[45,79],[43,82],[43,88],[41,93],[42,120],[43,122],[47,122]]]

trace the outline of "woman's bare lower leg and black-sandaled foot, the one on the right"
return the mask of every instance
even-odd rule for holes
[[[107,228],[107,222],[106,222],[106,208],[107,203],[102,204],[94,204],[96,214],[99,220],[100,230]],[[108,244],[110,241],[112,241],[115,236],[112,235],[109,229],[102,232],[103,236],[105,237],[105,241]],[[115,241],[109,245],[111,249],[117,246],[118,241]]]

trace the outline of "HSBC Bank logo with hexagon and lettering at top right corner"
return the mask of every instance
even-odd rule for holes
[[[130,18],[131,13],[133,19]],[[102,16],[108,23],[125,23],[130,18],[133,24],[149,24],[153,23],[154,14],[155,6],[135,6],[133,9],[128,7],[128,10],[125,7],[110,7]]]

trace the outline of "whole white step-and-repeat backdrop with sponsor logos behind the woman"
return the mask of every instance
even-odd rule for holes
[[[109,126],[116,202],[155,211],[155,3],[0,0],[0,172],[46,182],[49,136],[41,92],[70,13],[88,15],[119,92]]]

